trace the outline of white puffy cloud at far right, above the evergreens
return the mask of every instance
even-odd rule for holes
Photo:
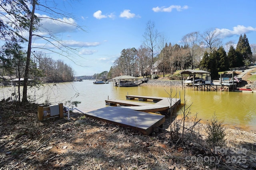
[[[245,27],[238,25],[236,27],[233,27],[233,30],[228,30],[225,28],[219,29],[216,28],[217,32],[220,32],[220,38],[226,38],[226,37],[232,37],[234,35],[240,35],[240,34],[246,34],[252,31],[256,31],[256,28],[253,28],[251,26]]]

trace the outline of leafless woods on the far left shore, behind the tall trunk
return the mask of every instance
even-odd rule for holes
[[[17,42],[0,47],[0,79],[24,78],[26,51]],[[55,61],[42,52],[33,53],[30,60],[29,77],[35,83],[73,81],[74,70],[61,60]]]

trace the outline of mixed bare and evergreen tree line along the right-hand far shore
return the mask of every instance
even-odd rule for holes
[[[200,68],[209,71],[212,79],[218,71],[248,66],[256,61],[256,45],[250,45],[246,34],[240,35],[236,48],[234,42],[222,46],[220,32],[209,29],[204,33],[192,32],[183,36],[180,44],[167,43],[158,33],[154,22],[148,21],[144,42],[138,49],[123,49],[108,73],[109,78],[119,75],[145,76],[155,66],[165,76],[176,70]],[[227,51],[227,52],[226,52]],[[154,75],[152,75],[154,77]]]

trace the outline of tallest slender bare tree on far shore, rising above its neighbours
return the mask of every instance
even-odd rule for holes
[[[148,21],[146,30],[144,32],[144,45],[150,49],[151,57],[152,57],[152,73],[154,74],[154,50],[156,47],[156,40],[158,38],[158,31],[155,28],[155,24],[152,21]],[[152,79],[154,79],[154,75],[152,74]]]

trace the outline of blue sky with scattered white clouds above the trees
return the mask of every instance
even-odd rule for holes
[[[55,3],[57,8],[74,15],[66,22],[75,22],[86,30],[42,21],[66,45],[79,50],[80,56],[72,55],[72,61],[46,51],[47,56],[70,65],[75,76],[109,71],[122,49],[142,45],[149,20],[172,44],[180,43],[186,34],[203,33],[211,28],[221,32],[223,45],[230,40],[237,43],[244,33],[250,44],[256,43],[255,0],[55,0]],[[40,11],[36,13],[43,15]],[[36,47],[44,42],[36,39],[33,43]]]

